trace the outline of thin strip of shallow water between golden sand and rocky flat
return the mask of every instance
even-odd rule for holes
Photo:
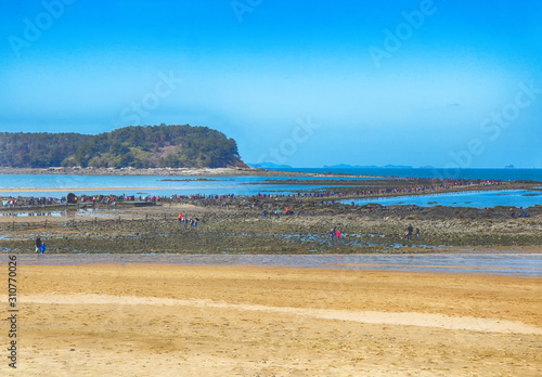
[[[0,261],[7,264],[8,255]],[[179,255],[179,253],[69,253],[17,255],[18,265],[173,264],[263,265],[311,269],[385,270],[404,272],[476,273],[542,277],[542,255],[403,253],[403,255]]]

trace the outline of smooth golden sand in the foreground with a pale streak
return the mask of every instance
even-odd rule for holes
[[[541,277],[21,265],[17,283],[0,375],[542,375]]]

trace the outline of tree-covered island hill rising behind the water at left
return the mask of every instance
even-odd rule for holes
[[[0,166],[10,168],[246,167],[235,140],[199,126],[129,126],[95,135],[0,132]]]

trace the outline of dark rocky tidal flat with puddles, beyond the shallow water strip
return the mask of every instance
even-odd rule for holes
[[[285,214],[285,208],[292,214]],[[4,213],[24,210],[28,211]],[[494,247],[542,251],[542,206],[530,207],[526,218],[512,218],[508,207],[350,206],[288,197],[260,198],[256,206],[244,198],[163,199],[149,207],[125,203],[48,210],[64,212],[0,217],[0,250],[33,252],[40,234],[49,252],[404,253]],[[197,227],[184,227],[179,213],[198,218]],[[421,230],[420,238],[404,239],[409,224]],[[330,236],[333,226],[343,234],[338,240]]]

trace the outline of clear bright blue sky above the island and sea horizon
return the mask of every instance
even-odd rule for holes
[[[542,168],[540,0],[4,0],[0,131],[207,126],[247,162]]]

